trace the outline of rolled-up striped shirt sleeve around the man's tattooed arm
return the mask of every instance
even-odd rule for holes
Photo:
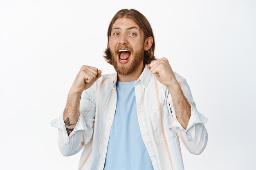
[[[74,130],[67,135],[63,113],[51,122],[51,126],[58,128],[58,147],[64,156],[78,153],[92,138],[95,121],[96,102],[92,88],[83,91],[79,106],[79,119]]]

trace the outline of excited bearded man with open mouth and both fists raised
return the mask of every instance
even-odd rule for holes
[[[207,144],[207,119],[186,79],[156,60],[148,20],[122,9],[108,27],[105,58],[117,73],[82,66],[59,119],[64,156],[83,148],[79,170],[183,170],[180,141],[192,154]],[[80,106],[80,107],[79,107]]]

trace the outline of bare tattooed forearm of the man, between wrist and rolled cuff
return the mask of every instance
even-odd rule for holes
[[[70,91],[67,97],[67,105],[64,110],[64,122],[67,129],[67,134],[74,130],[76,122],[79,118],[79,104],[80,104],[80,93]]]

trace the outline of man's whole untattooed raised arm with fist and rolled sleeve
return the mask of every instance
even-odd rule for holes
[[[189,152],[200,154],[208,140],[207,131],[203,125],[207,122],[207,118],[197,111],[186,79],[177,73],[174,74],[166,58],[152,61],[148,68],[171,94],[168,95],[168,103],[174,121],[170,128],[176,129]]]

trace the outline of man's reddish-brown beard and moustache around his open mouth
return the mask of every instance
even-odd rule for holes
[[[119,56],[118,56],[118,49],[127,49],[130,51],[130,57],[129,61],[126,64],[119,63]],[[134,72],[137,68],[139,68],[139,65],[141,62],[143,62],[144,58],[144,49],[143,46],[141,46],[141,49],[137,51],[133,51],[132,47],[128,46],[117,46],[115,51],[110,50],[111,53],[111,61],[112,65],[114,66],[116,72],[119,75],[129,75],[130,73]]]

